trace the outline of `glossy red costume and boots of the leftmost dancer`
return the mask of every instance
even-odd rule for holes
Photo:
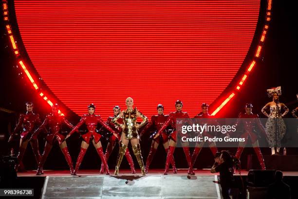
[[[25,114],[20,114],[19,122],[13,132],[13,135],[17,134],[23,125],[23,129],[20,134],[20,137],[23,141],[30,139],[34,133],[35,128],[39,124],[40,124],[40,119],[39,119],[38,114],[35,114],[32,112],[26,112]],[[33,153],[35,155],[36,162],[38,164],[40,161],[40,154],[39,154],[39,150],[38,150],[38,141],[37,141],[37,139],[34,139],[34,140],[31,140],[30,143],[31,143],[31,146],[33,149]],[[18,154],[19,162],[23,159],[25,150],[26,149],[24,149],[24,148],[21,148],[21,147],[19,148],[19,154]],[[19,165],[17,165],[16,168],[18,168],[18,166]]]

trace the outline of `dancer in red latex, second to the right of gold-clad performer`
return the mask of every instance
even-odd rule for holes
[[[176,142],[178,141],[177,138],[179,136],[181,136],[180,133],[178,133],[176,131],[176,119],[186,118],[186,119],[189,119],[187,123],[192,124],[192,121],[189,118],[188,114],[186,112],[182,112],[182,107],[183,107],[182,101],[177,100],[176,103],[175,103],[175,107],[176,107],[176,112],[171,112],[169,114],[169,117],[168,117],[167,121],[158,130],[157,134],[154,137],[154,139],[158,138],[159,135],[162,134],[162,132],[167,128],[168,125],[171,125],[172,128],[174,129],[174,131],[170,134],[169,150],[168,150],[164,175],[168,175],[168,166],[169,166],[169,163],[171,162],[171,160],[173,159],[173,153],[174,153],[174,150],[175,150],[175,147],[176,147]],[[191,156],[190,156],[190,152],[189,152],[188,143],[183,142],[182,146],[183,146],[183,151],[185,153],[186,160],[187,160],[187,163],[188,163],[188,166],[189,166],[188,174],[195,175],[195,173],[193,172],[193,169],[192,169],[192,162],[191,162]]]

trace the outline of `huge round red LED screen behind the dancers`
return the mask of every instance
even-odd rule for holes
[[[38,75],[76,114],[103,118],[132,97],[145,115],[183,100],[191,116],[229,85],[253,40],[260,0],[14,0]]]

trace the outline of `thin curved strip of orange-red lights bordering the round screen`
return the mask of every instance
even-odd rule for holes
[[[21,65],[22,70],[25,72],[27,78],[31,81],[33,87],[38,91],[39,96],[43,100],[45,100],[50,106],[52,106],[53,102],[50,99],[48,99],[48,97],[46,97],[41,91],[39,91],[39,87],[38,87],[37,83],[35,82],[34,78],[31,76],[30,71],[26,68],[25,64],[20,59],[19,49],[18,49],[18,46],[14,40],[11,26],[9,24],[7,0],[2,0],[2,5],[3,5],[3,16],[4,16],[6,30],[7,30],[8,36],[10,38],[13,50],[15,52],[15,56],[16,56],[19,64]],[[256,48],[256,51],[255,51],[254,59],[250,62],[250,64],[248,64],[247,69],[244,72],[244,74],[242,75],[242,78],[239,80],[238,85],[230,92],[230,94],[227,95],[227,97],[225,99],[223,98],[224,99],[223,102],[212,112],[212,114],[211,114],[212,116],[216,115],[223,108],[223,106],[225,106],[237,94],[237,92],[240,90],[241,86],[247,79],[248,75],[250,74],[251,70],[253,69],[253,67],[255,67],[256,61],[260,58],[262,46],[264,44],[265,36],[266,36],[266,33],[269,28],[269,22],[271,20],[271,5],[272,5],[272,0],[268,0],[267,1],[267,12],[266,12],[266,22],[265,22],[263,30],[262,30],[262,34],[261,34],[261,38],[259,40],[258,47]],[[59,110],[59,114],[64,115],[60,110]]]

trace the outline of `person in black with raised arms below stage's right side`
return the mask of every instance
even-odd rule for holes
[[[220,184],[222,187],[223,199],[230,199],[229,190],[234,184],[233,160],[229,152],[222,151],[219,157],[215,157],[215,163],[211,168],[211,173],[220,172]]]

